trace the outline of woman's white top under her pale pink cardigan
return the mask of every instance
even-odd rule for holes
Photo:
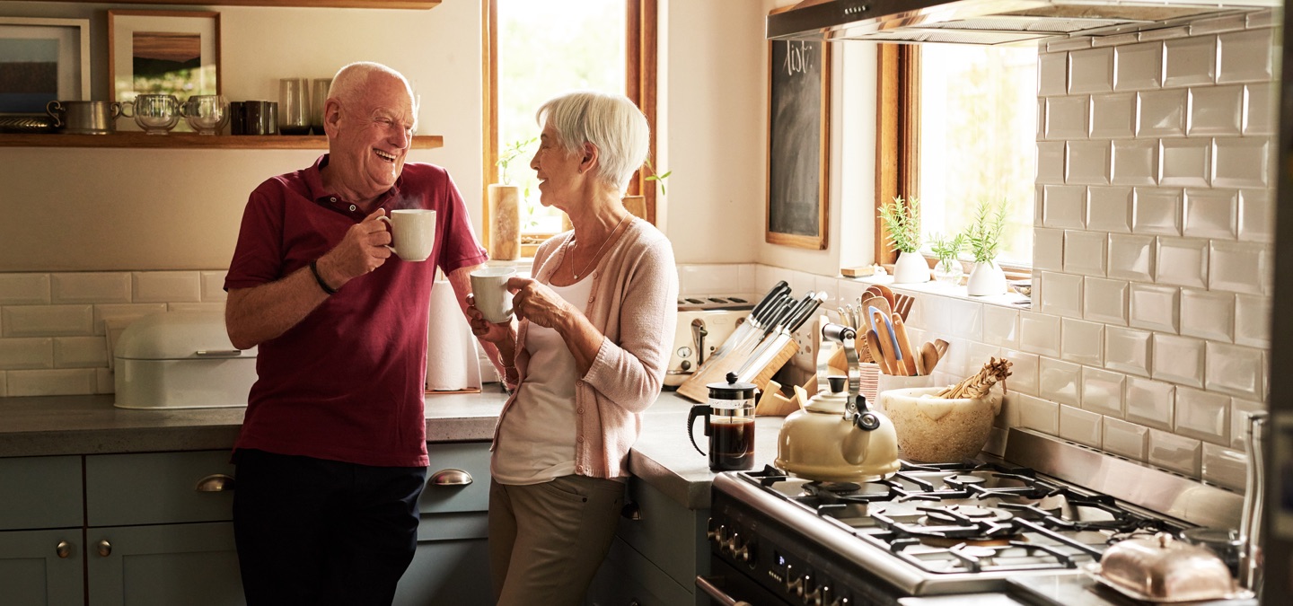
[[[551,286],[577,309],[592,295],[592,279]],[[517,388],[516,402],[503,416],[490,460],[490,473],[504,485],[537,485],[574,473],[574,355],[552,328],[530,324],[525,335],[530,372]]]

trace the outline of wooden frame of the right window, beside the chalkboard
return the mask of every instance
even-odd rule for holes
[[[875,208],[899,194],[921,195],[921,45],[879,44],[875,72]],[[1036,199],[1033,200],[1036,204]],[[897,253],[890,249],[884,222],[875,221],[875,262],[892,266]],[[924,253],[932,269],[937,258]],[[972,262],[961,261],[968,274]],[[1009,279],[1025,279],[1032,265],[999,264]]]

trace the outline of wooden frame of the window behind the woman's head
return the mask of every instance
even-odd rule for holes
[[[657,27],[658,27],[658,0],[625,0],[625,89],[626,97],[637,103],[650,125],[650,146],[646,158],[656,158],[656,90],[657,75]],[[484,23],[484,39],[481,41],[481,54],[484,57],[481,67],[484,71],[484,99],[485,121],[484,140],[485,152],[482,158],[481,180],[481,240],[489,247],[490,242],[490,216],[489,216],[489,186],[498,182],[498,0],[481,3],[481,23]],[[626,196],[640,195],[645,203],[645,218],[656,225],[656,187],[649,187],[646,174],[643,171],[634,173],[628,181]],[[533,257],[539,243],[556,234],[525,233],[521,239],[521,256]]]

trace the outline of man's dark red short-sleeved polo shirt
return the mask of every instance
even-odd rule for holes
[[[365,213],[323,189],[314,165],[265,181],[243,213],[225,289],[278,280],[335,247]],[[449,173],[409,163],[378,200],[436,211],[427,261],[390,256],[345,283],[299,324],[260,344],[237,448],[376,466],[427,465],[423,385],[436,267],[446,274],[486,260]]]

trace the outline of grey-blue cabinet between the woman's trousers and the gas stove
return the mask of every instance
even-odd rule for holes
[[[636,478],[606,561],[588,588],[588,606],[709,605],[696,576],[710,571],[709,509],[688,509]]]

